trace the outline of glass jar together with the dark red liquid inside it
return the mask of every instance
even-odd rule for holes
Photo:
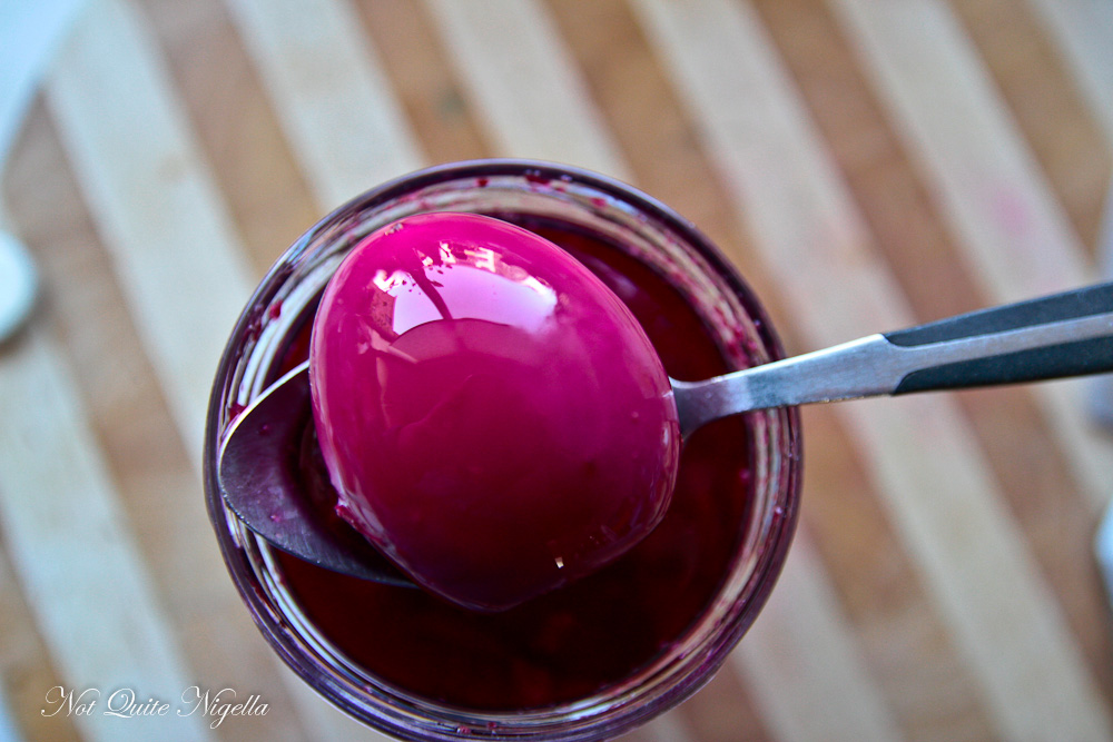
[[[780,357],[765,313],[717,250],[614,180],[550,164],[424,170],[333,212],[278,260],[221,358],[206,432],[206,491],[228,570],[263,634],[356,719],[403,739],[614,736],[708,681],[757,616],[796,522],[795,410],[712,423],[686,442],[662,523],[603,570],[496,614],[329,573],[269,548],[224,505],[216,453],[228,422],[306,357],[328,277],[361,238],[405,216],[470,211],[572,253],[642,323],[669,375],[707,378]],[[307,497],[327,503],[319,452]]]

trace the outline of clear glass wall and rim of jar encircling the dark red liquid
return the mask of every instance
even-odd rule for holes
[[[207,504],[225,562],[279,656],[336,706],[381,731],[412,740],[612,738],[674,706],[710,680],[768,597],[791,541],[799,501],[795,409],[750,413],[745,416],[745,436],[728,442],[739,446],[738,456],[749,463],[747,503],[737,523],[728,524],[732,552],[702,609],[624,676],[582,696],[541,705],[469,708],[415,692],[353,659],[322,629],[313,605],[287,578],[284,563],[288,565],[289,557],[247,530],[219,494],[217,455],[228,423],[288,365],[292,343],[299,334],[304,337],[341,259],[375,229],[427,211],[509,214],[600,238],[679,291],[726,368],[782,355],[764,309],[729,263],[688,221],[629,186],[524,160],[454,164],[400,178],[341,207],[298,239],[264,278],[232,334],[217,370],[205,441]],[[683,467],[682,461],[681,472]]]

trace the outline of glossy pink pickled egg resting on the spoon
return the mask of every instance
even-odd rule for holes
[[[556,588],[668,508],[680,428],[656,350],[520,227],[427,214],[363,239],[325,289],[309,379],[337,513],[454,603]]]

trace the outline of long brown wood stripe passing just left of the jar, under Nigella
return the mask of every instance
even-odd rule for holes
[[[43,107],[32,111],[9,176],[20,234],[43,279],[35,321],[57,327],[68,366],[81,369],[75,384],[195,673],[190,680],[258,693],[270,704],[266,716],[226,720],[225,739],[304,739],[273,653],[220,563],[199,477]]]

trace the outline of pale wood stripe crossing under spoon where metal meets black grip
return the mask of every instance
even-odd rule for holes
[[[896,281],[748,7],[636,7],[692,116],[705,122],[706,146],[790,297],[796,325],[820,347],[870,332],[878,318],[909,324]],[[956,406],[920,397],[838,409],[863,442],[890,517],[1003,732],[1106,736],[1107,711]]]

